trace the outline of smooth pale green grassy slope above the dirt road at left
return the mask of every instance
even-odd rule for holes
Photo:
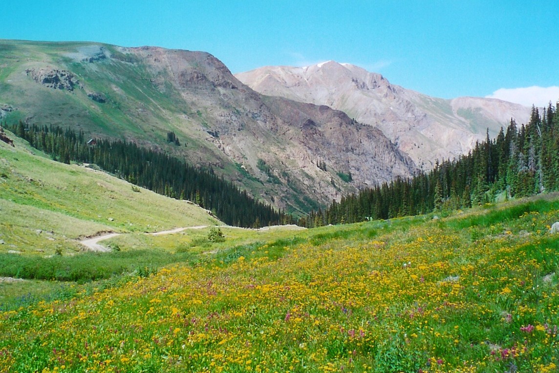
[[[0,142],[0,254],[83,250],[98,232],[154,232],[220,224],[195,205],[163,197],[82,165],[65,165]]]

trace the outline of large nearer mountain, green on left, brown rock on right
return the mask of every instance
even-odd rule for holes
[[[416,171],[376,128],[326,106],[257,93],[206,52],[3,45],[9,52],[0,64],[11,73],[0,81],[0,102],[17,108],[8,121],[69,126],[171,152],[287,211],[302,213]],[[53,89],[60,87],[42,79],[50,73],[39,71],[58,71],[57,82],[73,82],[73,89]],[[167,142],[169,131],[181,146]]]

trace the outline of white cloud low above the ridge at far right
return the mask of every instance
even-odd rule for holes
[[[532,107],[546,107],[549,101],[555,106],[559,99],[559,87],[553,85],[552,87],[532,87],[524,88],[501,88],[496,90],[486,98],[498,98],[503,101],[518,103],[524,106]]]

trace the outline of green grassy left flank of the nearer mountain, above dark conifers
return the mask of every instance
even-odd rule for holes
[[[191,107],[173,77],[120,50],[100,43],[0,40],[0,119],[70,127],[161,149],[189,164],[212,166],[259,195],[262,184],[238,176],[234,163],[208,141],[202,106]],[[40,84],[42,75],[39,82],[35,78],[42,71],[72,74],[74,89]],[[177,133],[181,146],[167,142],[168,131]]]

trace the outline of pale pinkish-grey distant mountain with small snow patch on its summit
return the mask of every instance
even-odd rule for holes
[[[510,118],[524,122],[530,112],[495,99],[429,97],[334,61],[305,68],[268,66],[236,77],[257,92],[327,105],[377,127],[423,169],[437,159],[466,154],[485,138],[487,128],[496,136]]]

